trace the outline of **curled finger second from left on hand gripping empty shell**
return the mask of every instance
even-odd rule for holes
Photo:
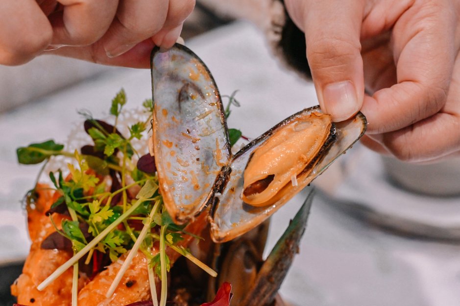
[[[59,0],[62,11],[49,16],[55,45],[88,45],[107,31],[117,12],[118,0]]]

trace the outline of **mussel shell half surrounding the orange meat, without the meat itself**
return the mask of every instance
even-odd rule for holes
[[[214,198],[215,206],[212,212],[211,233],[216,242],[232,240],[250,229],[254,228],[279,208],[291,197],[310,184],[316,176],[320,175],[341,154],[345,153],[365,132],[366,119],[362,113],[349,120],[335,123],[336,140],[327,150],[320,152],[313,170],[297,186],[290,186],[290,191],[283,197],[268,206],[255,207],[244,203],[241,196],[243,191],[243,172],[251,153],[262,145],[266,139],[277,129],[289,124],[305,112],[321,112],[318,106],[304,109],[291,117],[283,120],[271,130],[258,137],[242,150],[235,154],[227,170],[230,172],[226,182],[222,185],[220,194]]]

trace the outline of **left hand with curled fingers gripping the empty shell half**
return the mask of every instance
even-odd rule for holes
[[[0,4],[0,64],[58,54],[106,65],[149,67],[169,48],[195,0],[14,0]]]

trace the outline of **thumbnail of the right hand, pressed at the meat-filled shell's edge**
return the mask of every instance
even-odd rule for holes
[[[360,104],[356,89],[351,81],[343,81],[326,85],[323,90],[325,111],[332,115],[332,120],[346,120],[358,112]]]

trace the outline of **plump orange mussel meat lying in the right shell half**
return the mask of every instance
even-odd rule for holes
[[[280,127],[254,150],[244,169],[242,200],[267,206],[289,193],[289,184],[303,185],[320,153],[335,139],[331,116],[303,113]]]

